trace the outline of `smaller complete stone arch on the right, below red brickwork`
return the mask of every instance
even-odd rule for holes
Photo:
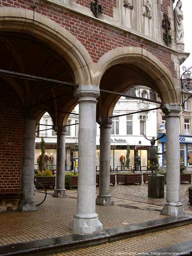
[[[143,73],[150,74],[155,84],[153,89],[160,94],[162,101],[175,104],[180,102],[179,80],[172,76],[158,58],[140,47],[117,48],[103,55],[93,71],[94,84],[99,85],[105,71],[118,64],[134,65]]]

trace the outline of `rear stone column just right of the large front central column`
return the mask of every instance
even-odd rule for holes
[[[113,205],[110,195],[110,159],[111,159],[111,125],[112,119],[99,118],[100,124],[100,163],[99,163],[99,195],[96,204]]]

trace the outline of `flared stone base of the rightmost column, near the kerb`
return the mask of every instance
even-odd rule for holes
[[[161,210],[161,215],[168,215],[173,217],[179,217],[185,215],[185,210],[181,202],[179,203],[165,203]]]

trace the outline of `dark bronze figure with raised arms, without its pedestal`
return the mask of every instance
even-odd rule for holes
[[[158,153],[155,145],[156,140],[162,139],[165,136],[165,134],[163,134],[162,136],[160,136],[159,138],[157,137],[157,139],[155,139],[155,137],[153,137],[151,140],[147,139],[146,135],[143,134],[143,137],[147,140],[151,141],[151,146],[148,147],[148,159],[150,160],[150,167],[151,167],[151,171],[152,171],[152,175],[157,175],[157,169],[159,167],[159,161],[158,161],[158,156],[157,155],[162,155],[165,154],[165,152],[162,153]],[[155,173],[155,174],[154,174]]]

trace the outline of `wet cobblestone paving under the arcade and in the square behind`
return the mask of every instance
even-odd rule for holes
[[[186,194],[190,184],[181,184],[181,198],[186,212],[191,214],[192,207],[187,205]],[[96,188],[98,193],[98,187]],[[68,198],[53,198],[52,191],[37,211],[9,211],[0,214],[0,245],[38,239],[59,237],[71,234],[70,222],[77,207],[77,190],[68,190]],[[96,206],[96,212],[103,228],[134,224],[158,218],[165,199],[147,198],[147,184],[111,186],[114,206]],[[99,255],[99,254],[98,254]]]

